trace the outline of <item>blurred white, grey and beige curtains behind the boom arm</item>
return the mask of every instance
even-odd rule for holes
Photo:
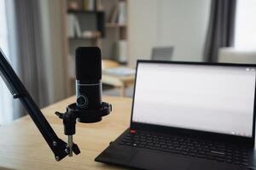
[[[62,0],[0,0],[0,47],[39,107],[67,97],[66,10]],[[0,125],[26,115],[0,88]]]

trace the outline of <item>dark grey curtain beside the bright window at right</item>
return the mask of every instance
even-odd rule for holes
[[[218,49],[234,46],[236,0],[212,0],[204,59],[218,61]]]

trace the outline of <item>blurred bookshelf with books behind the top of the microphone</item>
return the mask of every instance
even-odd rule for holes
[[[126,65],[129,0],[66,1],[69,53],[67,63],[71,80],[75,74],[75,49],[79,46],[99,46],[102,48],[102,59],[111,59]]]

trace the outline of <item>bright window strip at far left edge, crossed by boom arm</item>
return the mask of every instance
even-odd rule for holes
[[[5,0],[0,0],[0,48],[6,57],[9,57],[9,42],[7,18],[5,13]],[[13,120],[13,106],[9,89],[0,78],[0,125]]]

